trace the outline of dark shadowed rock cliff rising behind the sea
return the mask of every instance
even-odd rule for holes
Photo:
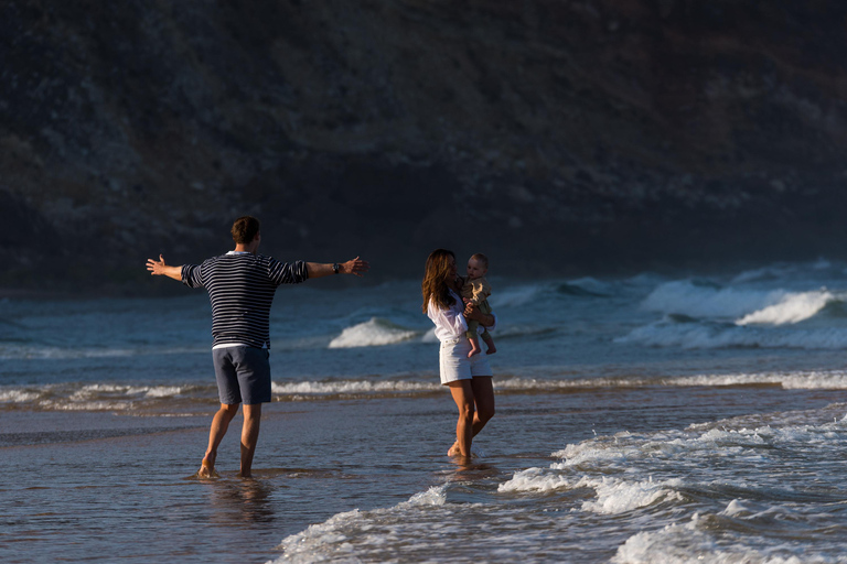
[[[0,285],[229,248],[416,275],[844,257],[847,4],[0,8]]]

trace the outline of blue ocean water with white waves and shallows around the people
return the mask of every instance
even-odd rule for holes
[[[490,280],[465,464],[418,281],[281,288],[253,480],[203,292],[0,302],[0,561],[847,562],[847,264]]]

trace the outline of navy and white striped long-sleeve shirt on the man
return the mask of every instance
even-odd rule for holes
[[[277,286],[308,278],[303,261],[279,262],[249,252],[229,252],[182,267],[183,284],[208,291],[214,347],[270,348],[270,305]]]

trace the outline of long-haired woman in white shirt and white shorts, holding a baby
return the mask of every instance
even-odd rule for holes
[[[471,345],[465,338],[467,318],[493,327],[496,317],[462,303],[459,296],[462,282],[457,275],[455,254],[452,251],[436,249],[429,254],[420,285],[424,313],[436,324],[436,337],[441,341],[441,383],[450,387],[450,393],[459,408],[457,441],[447,454],[470,457],[473,437],[494,415],[494,388],[487,356],[481,352],[468,358]]]

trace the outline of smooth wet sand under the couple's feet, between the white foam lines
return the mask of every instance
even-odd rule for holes
[[[444,455],[455,422],[447,394],[277,402],[264,411],[251,480],[236,476],[240,415],[218,454],[221,479],[199,480],[213,409],[182,417],[12,410],[0,420],[0,557],[262,563],[281,555],[282,539],[336,513],[393,507],[447,480],[485,489],[594,433],[835,399],[847,398],[778,388],[502,394],[474,443],[483,456],[469,467]],[[473,488],[459,501],[476,501]]]

